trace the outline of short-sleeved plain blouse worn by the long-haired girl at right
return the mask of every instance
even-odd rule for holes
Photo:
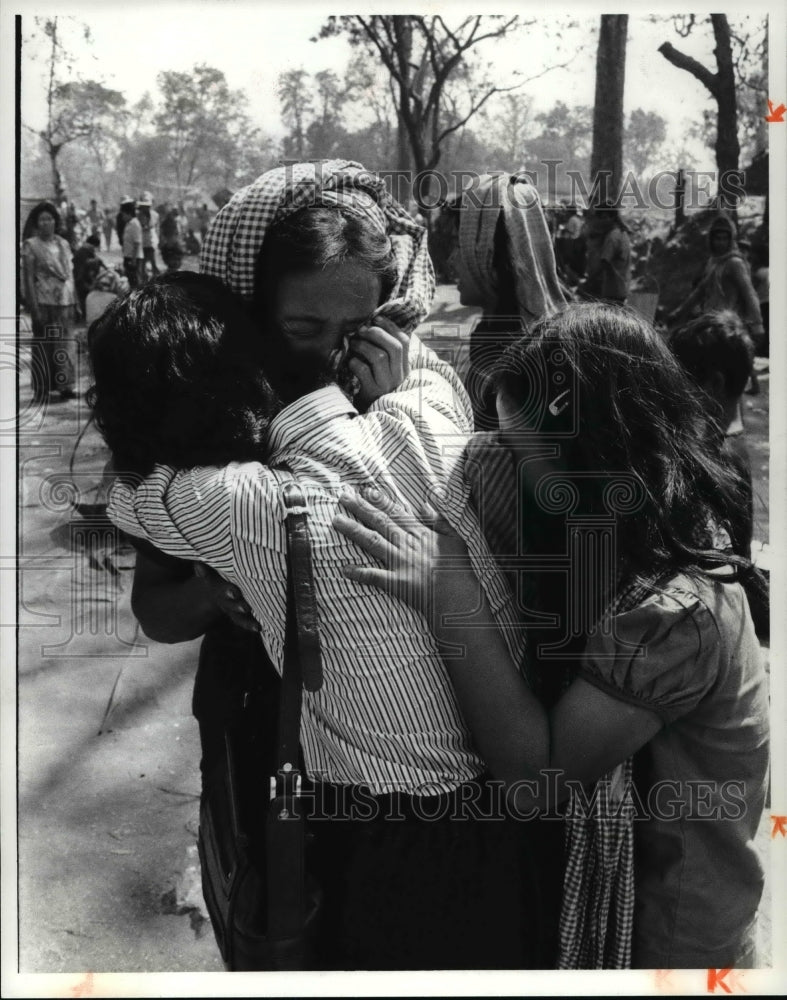
[[[741,967],[768,768],[767,679],[742,587],[674,578],[589,640],[580,673],[664,723],[635,757],[634,964]]]

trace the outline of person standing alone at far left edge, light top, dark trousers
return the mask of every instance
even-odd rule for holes
[[[30,213],[26,230],[33,235],[22,244],[25,302],[33,325],[33,399],[49,393],[73,399],[74,342],[72,330],[76,293],[68,241],[57,235],[60,214],[49,201]]]

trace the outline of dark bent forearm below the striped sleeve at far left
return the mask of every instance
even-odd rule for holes
[[[196,639],[223,617],[197,576],[144,587],[135,580],[131,610],[148,639],[166,643]]]

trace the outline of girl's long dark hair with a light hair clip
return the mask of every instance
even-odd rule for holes
[[[535,412],[539,392],[568,389],[572,405],[554,416],[544,407],[539,431],[556,435],[569,473],[580,474],[578,513],[609,516],[603,474],[633,476],[640,496],[615,515],[624,578],[748,567],[713,546],[716,528],[729,533],[744,485],[721,461],[713,422],[687,375],[636,313],[600,303],[568,306],[508,348],[496,381],[522,413]],[[534,516],[542,513],[536,505]]]

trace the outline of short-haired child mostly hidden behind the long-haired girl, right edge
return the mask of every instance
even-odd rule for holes
[[[741,420],[741,398],[754,366],[754,344],[732,310],[703,313],[676,330],[669,341],[672,353],[702,390],[707,412],[715,421],[724,461],[746,487],[745,503],[730,525],[730,542],[736,555],[751,558],[754,526],[751,456]],[[757,583],[761,584],[757,578]],[[747,585],[757,634],[767,634],[767,593],[757,583]]]

